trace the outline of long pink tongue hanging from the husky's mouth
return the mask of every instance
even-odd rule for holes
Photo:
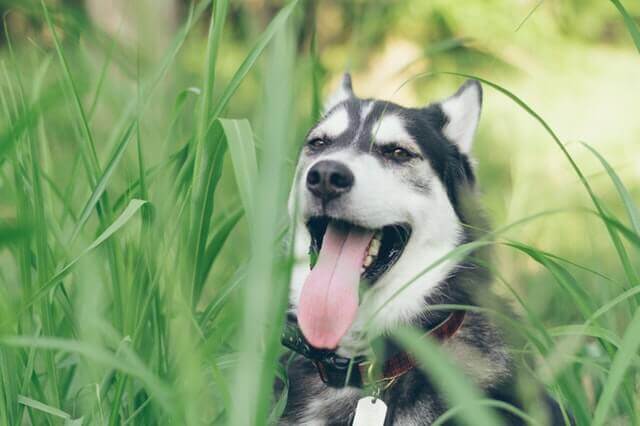
[[[327,226],[298,305],[298,324],[312,346],[337,347],[355,320],[360,269],[371,238],[363,229]]]

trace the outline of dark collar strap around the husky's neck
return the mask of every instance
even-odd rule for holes
[[[454,311],[425,335],[439,341],[447,340],[460,329],[464,316],[465,311]],[[416,366],[413,357],[406,352],[399,352],[384,362],[381,371],[376,375],[377,379],[372,381],[375,366],[366,357],[345,358],[330,350],[316,349],[307,343],[297,325],[291,323],[287,324],[282,334],[282,344],[311,360],[322,381],[336,388],[368,387],[374,384],[373,381],[387,383],[388,386]]]

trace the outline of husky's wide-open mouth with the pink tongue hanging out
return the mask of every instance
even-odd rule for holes
[[[359,283],[375,283],[398,261],[411,236],[405,224],[367,229],[342,220],[313,217],[311,272],[298,305],[298,323],[316,348],[334,349],[355,320]]]

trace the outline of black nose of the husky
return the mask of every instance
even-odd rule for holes
[[[307,173],[307,188],[323,201],[329,201],[353,187],[353,173],[337,161],[318,161]]]

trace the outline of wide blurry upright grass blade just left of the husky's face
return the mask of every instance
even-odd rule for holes
[[[274,19],[283,20],[296,2]],[[283,14],[284,13],[284,14]],[[271,31],[273,24],[270,25]],[[276,25],[275,28],[278,26]],[[281,221],[286,217],[286,158],[291,128],[294,44],[288,28],[277,31],[269,50],[264,94],[265,135],[250,229],[251,262],[243,281],[242,319],[238,339],[230,424],[264,425],[271,405],[275,365],[281,352],[279,335],[284,323],[291,269],[290,253],[274,250]]]

